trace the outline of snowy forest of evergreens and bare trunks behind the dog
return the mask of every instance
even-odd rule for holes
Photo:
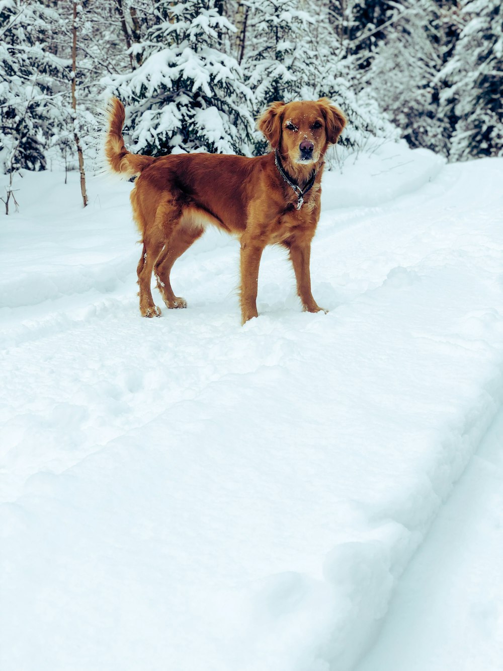
[[[500,0],[1,0],[0,171],[92,158],[105,101],[144,154],[266,151],[274,100],[331,98],[341,144],[503,154]]]

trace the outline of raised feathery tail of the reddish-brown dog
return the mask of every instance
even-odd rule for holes
[[[118,98],[111,98],[107,104],[107,132],[105,134],[105,158],[112,172],[125,179],[137,176],[152,163],[152,156],[131,154],[124,145],[122,127],[124,125],[124,105]]]

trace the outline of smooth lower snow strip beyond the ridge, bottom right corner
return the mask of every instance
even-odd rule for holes
[[[376,647],[357,671],[501,670],[502,435],[500,411],[398,583]]]

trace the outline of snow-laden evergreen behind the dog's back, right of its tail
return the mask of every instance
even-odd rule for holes
[[[161,1],[142,64],[113,76],[125,102],[134,150],[249,152],[251,93],[237,61],[222,48],[233,25],[215,0]]]

